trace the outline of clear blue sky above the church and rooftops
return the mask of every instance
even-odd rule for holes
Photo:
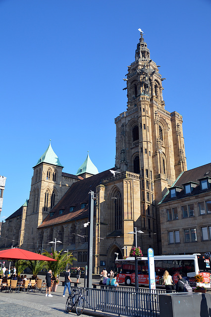
[[[211,162],[210,0],[0,0],[1,220],[29,198],[49,139],[63,171],[114,166],[114,118],[140,33],[183,116],[188,169]]]

